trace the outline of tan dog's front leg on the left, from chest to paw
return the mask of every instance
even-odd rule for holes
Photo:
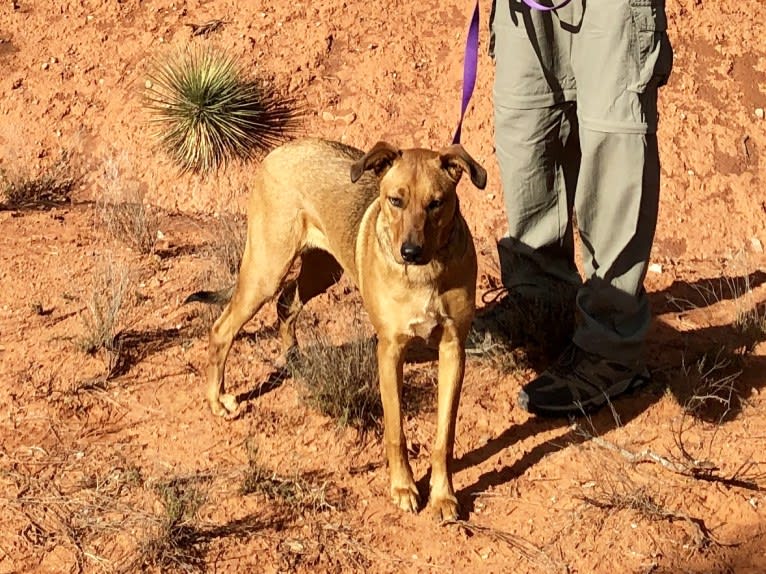
[[[407,459],[402,424],[402,383],[406,343],[381,337],[378,341],[378,373],[383,402],[384,442],[391,473],[391,498],[406,512],[418,509],[418,489]]]

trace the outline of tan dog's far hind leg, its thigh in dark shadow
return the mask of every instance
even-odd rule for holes
[[[283,361],[287,361],[297,345],[295,321],[303,306],[337,283],[342,275],[343,268],[327,251],[309,249],[301,255],[298,277],[285,285],[277,300]]]

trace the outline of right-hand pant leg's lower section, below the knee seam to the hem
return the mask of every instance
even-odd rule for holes
[[[586,281],[574,343],[640,369],[651,322],[643,283],[659,207],[657,136],[583,130],[583,139],[576,212]]]

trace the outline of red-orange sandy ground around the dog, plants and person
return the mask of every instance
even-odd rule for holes
[[[307,134],[360,148],[378,139],[438,147],[448,143],[458,113],[472,3],[13,4],[0,8],[0,168],[35,173],[64,150],[85,177],[71,206],[0,211],[0,496],[7,509],[0,572],[125,567],[146,539],[147,517],[162,511],[151,485],[188,476],[209,477],[194,524],[212,533],[197,563],[212,572],[766,570],[762,331],[733,383],[725,422],[684,416],[682,408],[693,379],[684,367],[694,371],[696,358],[712,358],[731,341],[738,314],[756,308],[766,315],[766,122],[756,114],[766,107],[761,0],[668,6],[676,62],[661,95],[663,199],[647,279],[657,382],[614,405],[619,424],[609,412],[585,422],[601,440],[584,441],[566,421],[539,420],[515,405],[532,368],[504,375],[471,361],[455,475],[470,531],[394,509],[379,438],[336,430],[306,406],[291,379],[250,401],[239,420],[211,417],[200,375],[205,337],[195,330],[197,311],[180,303],[206,286],[204,247],[215,229],[209,215],[242,207],[252,166],[208,179],[179,175],[153,148],[141,95],[152,58],[211,43],[299,98],[309,112]],[[188,24],[214,18],[225,20],[220,31],[192,37]],[[481,290],[497,275],[494,242],[504,221],[487,36],[484,26],[464,143],[488,168],[489,185],[460,189],[480,251]],[[160,210],[165,238],[157,254],[116,243],[99,223],[92,200],[103,193],[108,162],[119,166],[125,189]],[[123,326],[137,334],[137,360],[104,388],[88,390],[83,381],[103,373],[104,358],[84,354],[76,340],[94,269],[107,256],[132,270]],[[302,328],[342,342],[358,309],[348,285],[338,286],[311,303]],[[270,372],[276,343],[259,329],[272,320],[273,311],[264,311],[236,343],[228,367],[235,391],[256,388]],[[417,367],[425,375],[414,383],[429,399],[431,368]],[[428,469],[431,405],[406,423],[418,478]],[[718,468],[715,476],[735,480],[683,476],[646,457],[631,464],[607,448],[679,461],[679,437],[693,459]],[[297,516],[279,501],[240,494],[246,439],[281,475],[318,473],[332,508]],[[128,470],[140,480],[120,480]],[[94,492],[122,506],[100,507]],[[611,504],[598,503],[605,500]],[[83,516],[92,517],[95,535],[67,530]],[[107,523],[120,527],[97,528]],[[235,532],[236,525],[249,526]]]

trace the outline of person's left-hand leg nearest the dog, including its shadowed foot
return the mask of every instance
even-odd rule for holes
[[[498,0],[492,23],[495,144],[508,235],[498,242],[505,296],[486,312],[512,341],[529,342],[546,339],[531,331],[549,322],[542,315],[561,314],[562,298],[571,336],[580,284],[571,221],[580,151],[566,14],[521,6]],[[486,316],[480,312],[477,325]]]

